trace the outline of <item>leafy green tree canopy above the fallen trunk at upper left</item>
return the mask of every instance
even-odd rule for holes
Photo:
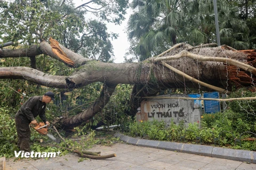
[[[51,37],[84,57],[111,61],[110,39],[104,22],[120,24],[128,1],[90,1],[75,7],[73,1],[0,1],[0,39],[18,44],[34,45]],[[89,18],[89,14],[95,19]]]

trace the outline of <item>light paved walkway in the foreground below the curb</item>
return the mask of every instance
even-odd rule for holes
[[[235,160],[198,156],[155,148],[138,147],[123,143],[115,143],[115,145],[111,147],[97,145],[94,146],[91,151],[101,151],[101,155],[116,153],[117,156],[105,160],[87,159],[80,163],[77,161],[80,157],[76,154],[68,154],[62,157],[50,158],[49,160],[41,158],[38,160],[23,159],[13,162],[13,159],[10,159],[6,161],[6,170],[256,169],[256,164],[247,164]]]

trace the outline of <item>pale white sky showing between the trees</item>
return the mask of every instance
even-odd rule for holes
[[[82,5],[88,1],[85,0],[74,0],[75,6]],[[130,1],[131,2],[131,1]],[[127,52],[126,49],[129,48],[129,41],[127,39],[127,35],[125,33],[125,27],[127,25],[128,19],[130,14],[132,13],[132,10],[129,8],[127,9],[127,14],[125,15],[125,20],[122,22],[121,25],[115,25],[114,23],[106,23],[108,32],[114,32],[118,33],[119,37],[117,39],[111,40],[111,43],[113,45],[113,52],[115,55],[115,63],[123,63],[124,62],[124,54]]]

